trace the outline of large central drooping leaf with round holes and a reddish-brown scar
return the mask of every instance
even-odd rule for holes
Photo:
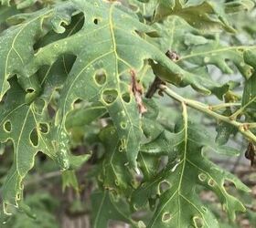
[[[77,0],[72,6],[86,16],[84,26],[74,36],[38,49],[36,57],[20,74],[30,76],[38,67],[52,64],[63,53],[76,55],[59,99],[56,133],[59,151],[65,156],[69,150],[65,143],[68,139],[65,121],[72,104],[77,99],[100,100],[112,117],[130,165],[136,168],[142,137],[140,113],[144,112],[143,91],[137,85],[140,75],[136,72],[144,66],[144,59],[152,58],[170,73],[171,81],[183,78],[189,84],[192,76],[140,36],[152,28],[140,23],[133,12],[103,1],[85,3]],[[197,86],[204,89],[199,84]]]

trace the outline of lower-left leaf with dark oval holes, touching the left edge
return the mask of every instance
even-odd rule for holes
[[[59,68],[63,70],[60,71]],[[16,78],[12,78],[8,95],[4,104],[0,106],[0,141],[12,140],[14,145],[14,162],[3,185],[5,213],[8,213],[10,205],[23,206],[23,180],[27,172],[33,168],[38,151],[44,152],[57,161],[60,168],[66,162],[56,153],[55,143],[52,140],[52,123],[48,117],[48,103],[52,93],[66,79],[62,59],[51,67],[40,69],[37,72],[37,78],[45,87],[40,98],[27,102],[31,99],[31,95],[19,86]],[[89,158],[90,155],[79,157],[68,155],[73,168],[80,166]]]

